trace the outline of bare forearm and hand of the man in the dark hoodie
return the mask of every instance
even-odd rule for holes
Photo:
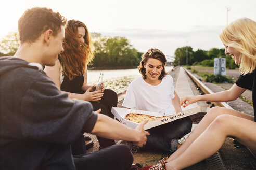
[[[106,115],[98,114],[97,122],[91,133],[109,139],[135,141],[137,146],[142,147],[146,144],[147,135],[149,135],[149,132],[143,129],[146,122],[147,120],[140,123],[136,129],[132,129]]]

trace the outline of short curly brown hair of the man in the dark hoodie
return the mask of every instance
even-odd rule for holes
[[[34,7],[27,9],[18,21],[20,43],[32,43],[48,29],[53,30],[53,36],[66,25],[67,20],[58,12],[49,8]]]

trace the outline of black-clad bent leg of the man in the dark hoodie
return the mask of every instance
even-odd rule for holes
[[[77,170],[129,170],[133,155],[129,147],[118,144],[93,153],[73,156],[73,160]]]

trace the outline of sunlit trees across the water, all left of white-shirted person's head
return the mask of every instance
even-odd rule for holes
[[[94,60],[88,67],[137,67],[140,56],[125,37],[107,37],[92,33]],[[10,32],[0,41],[0,56],[12,56],[19,47],[19,34]]]

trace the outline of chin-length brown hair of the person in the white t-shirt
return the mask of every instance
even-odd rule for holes
[[[140,61],[138,66],[139,73],[142,74],[143,79],[146,79],[146,69],[144,68],[144,63],[146,64],[149,58],[157,59],[163,63],[162,72],[158,77],[159,80],[162,80],[163,77],[167,75],[167,73],[165,72],[166,58],[162,51],[156,48],[151,48],[142,55],[142,61]]]

